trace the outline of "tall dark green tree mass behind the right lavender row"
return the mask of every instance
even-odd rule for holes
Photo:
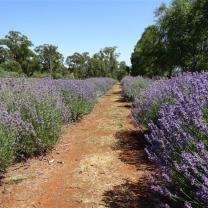
[[[208,69],[208,1],[172,0],[155,12],[131,56],[132,75],[172,76]]]

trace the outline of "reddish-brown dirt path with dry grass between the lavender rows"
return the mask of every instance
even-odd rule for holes
[[[52,153],[9,169],[0,208],[151,207],[143,148],[115,85]]]

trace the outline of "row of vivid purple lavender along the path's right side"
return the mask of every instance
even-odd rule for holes
[[[133,118],[148,128],[146,152],[157,165],[158,207],[208,207],[208,73],[152,81],[134,99]]]

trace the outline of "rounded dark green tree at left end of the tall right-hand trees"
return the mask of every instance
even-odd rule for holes
[[[131,56],[132,75],[156,76],[166,73],[166,48],[157,26],[147,27]]]

